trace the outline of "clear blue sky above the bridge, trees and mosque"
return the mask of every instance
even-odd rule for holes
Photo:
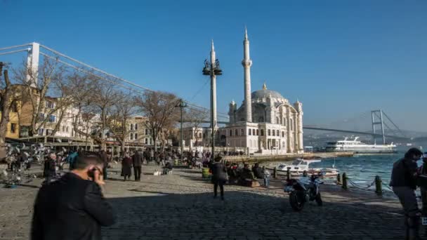
[[[298,98],[305,124],[382,107],[401,128],[427,131],[427,1],[0,0],[0,22],[0,47],[37,41],[206,107],[213,39],[220,112],[242,102],[247,25],[252,90],[266,81]]]

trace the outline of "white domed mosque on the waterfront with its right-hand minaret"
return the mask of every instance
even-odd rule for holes
[[[291,104],[264,84],[251,92],[249,39],[244,33],[244,100],[238,107],[230,102],[230,123],[219,128],[221,142],[227,147],[247,149],[249,154],[296,154],[303,152],[303,105]]]

